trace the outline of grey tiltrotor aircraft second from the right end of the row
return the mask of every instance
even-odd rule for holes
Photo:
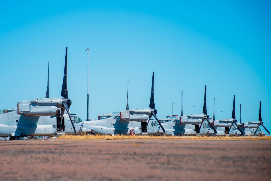
[[[236,124],[237,120],[235,119],[235,95],[233,96],[233,106],[232,106],[232,119],[219,119],[219,120],[213,120],[213,126],[214,127],[223,127],[225,128],[225,134],[229,134],[230,136],[237,136],[242,133],[239,126]],[[235,126],[232,127],[232,125],[235,124]],[[217,135],[217,134],[216,134]],[[221,134],[219,134],[221,135]]]

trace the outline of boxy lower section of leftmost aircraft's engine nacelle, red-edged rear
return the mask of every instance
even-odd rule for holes
[[[17,104],[17,111],[23,115],[60,117],[60,110],[56,106],[32,106],[27,100]]]

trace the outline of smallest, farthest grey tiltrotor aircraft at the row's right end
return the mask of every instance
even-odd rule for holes
[[[238,126],[240,126],[241,131],[244,132],[245,136],[251,136],[251,135],[265,135],[266,133],[263,132],[259,127],[260,125],[263,126],[263,128],[268,132],[270,135],[270,132],[264,127],[263,121],[262,121],[262,113],[261,113],[261,101],[260,101],[260,109],[259,109],[259,121],[250,121],[250,122],[244,122],[241,123],[241,104],[240,104],[240,123],[238,123]]]

